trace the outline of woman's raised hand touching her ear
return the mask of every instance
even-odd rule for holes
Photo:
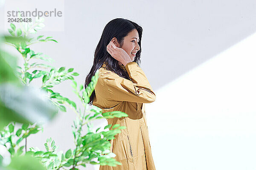
[[[122,48],[116,47],[112,41],[107,45],[107,51],[114,59],[121,62],[124,66],[128,62],[132,62],[127,52]]]

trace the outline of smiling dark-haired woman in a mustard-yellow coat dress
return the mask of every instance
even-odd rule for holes
[[[107,119],[108,124],[126,126],[111,140],[116,167],[100,166],[100,170],[155,170],[148,139],[145,104],[155,101],[155,94],[139,67],[142,27],[116,18],[104,28],[96,47],[93,67],[85,87],[99,69],[99,79],[90,103],[102,112],[122,111],[128,117]]]

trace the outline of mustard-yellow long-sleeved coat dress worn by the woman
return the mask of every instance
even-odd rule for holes
[[[111,140],[111,152],[122,165],[116,167],[100,166],[99,170],[155,170],[151,146],[148,139],[148,126],[145,117],[145,104],[155,101],[155,94],[136,62],[125,67],[128,80],[108,71],[105,63],[99,68],[99,79],[95,87],[93,105],[102,108],[102,112],[122,111],[128,117],[107,119],[108,124],[126,126]]]

